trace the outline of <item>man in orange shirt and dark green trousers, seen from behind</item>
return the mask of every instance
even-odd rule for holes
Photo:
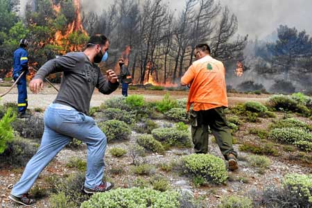
[[[229,170],[238,168],[237,153],[225,119],[227,92],[225,67],[211,58],[207,44],[198,44],[194,50],[196,61],[181,78],[181,85],[190,85],[187,112],[191,105],[191,135],[196,153],[208,153],[209,128],[229,164]]]

